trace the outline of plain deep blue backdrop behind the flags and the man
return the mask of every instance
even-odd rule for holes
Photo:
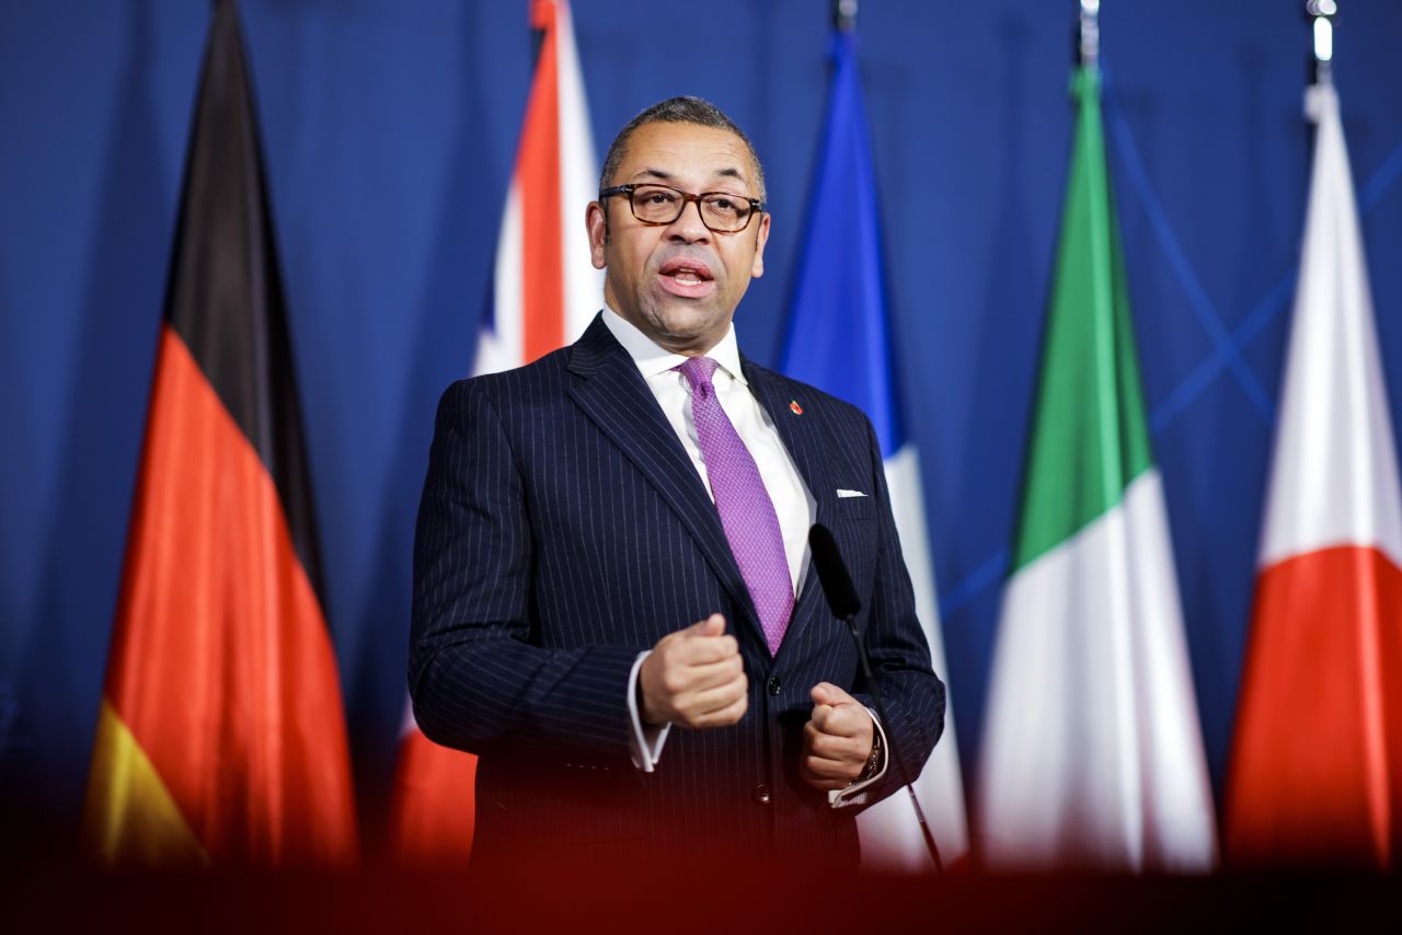
[[[1302,1],[1109,0],[1119,192],[1214,779],[1230,743],[1308,182]],[[1335,66],[1392,408],[1402,6],[1345,0]],[[700,94],[774,212],[736,318],[775,364],[827,87],[827,0],[576,0],[594,137]],[[414,513],[468,369],[526,104],[526,0],[245,0],[334,631],[373,833],[404,701]],[[868,0],[900,391],[924,456],[965,763],[1007,565],[1067,168],[1074,0]],[[209,10],[0,7],[0,827],[77,824]],[[579,236],[583,230],[583,206]]]

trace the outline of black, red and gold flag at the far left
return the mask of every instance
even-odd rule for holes
[[[84,814],[112,865],[350,866],[287,314],[231,0],[215,7]]]

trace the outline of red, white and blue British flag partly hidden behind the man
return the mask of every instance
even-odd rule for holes
[[[575,341],[599,311],[601,273],[589,257],[585,206],[599,170],[575,28],[565,0],[534,0],[536,74],[496,244],[492,314],[472,374],[519,367]],[[401,864],[463,864],[472,842],[477,758],[423,736],[405,711],[391,806]]]

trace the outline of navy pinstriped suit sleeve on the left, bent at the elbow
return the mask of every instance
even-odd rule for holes
[[[482,380],[439,402],[414,544],[409,694],[444,746],[628,761],[638,646],[545,649],[533,638],[526,486]]]

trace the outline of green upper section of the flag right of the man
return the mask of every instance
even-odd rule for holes
[[[1120,502],[1152,464],[1119,224],[1105,165],[1099,73],[1071,81],[1078,121],[1028,442],[1012,571]]]

